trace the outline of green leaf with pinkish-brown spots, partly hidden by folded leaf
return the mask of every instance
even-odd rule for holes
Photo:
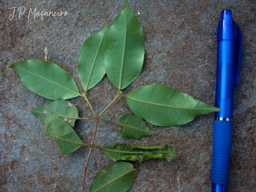
[[[39,116],[42,124],[45,124],[47,113],[50,112],[63,118],[71,127],[74,127],[75,119],[70,117],[79,117],[76,106],[69,101],[63,100],[51,101],[43,106],[31,109],[30,112],[36,117]]]

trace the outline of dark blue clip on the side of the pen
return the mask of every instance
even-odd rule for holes
[[[234,87],[238,87],[238,78],[241,65],[242,56],[242,32],[239,26],[235,23],[234,30],[234,40],[235,40],[235,65],[234,65]]]

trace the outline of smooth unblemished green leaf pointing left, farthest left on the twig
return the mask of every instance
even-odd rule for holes
[[[78,87],[71,75],[50,61],[28,60],[13,63],[21,82],[34,93],[52,100],[77,97]]]

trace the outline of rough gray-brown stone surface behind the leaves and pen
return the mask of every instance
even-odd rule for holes
[[[124,94],[147,85],[165,84],[214,106],[217,54],[217,25],[223,9],[233,12],[233,19],[243,35],[239,86],[234,90],[233,139],[231,146],[228,192],[256,191],[255,133],[255,61],[256,2],[254,0],[129,0],[145,35],[145,59],[142,72]],[[67,11],[65,17],[18,16],[8,20],[11,7],[24,6],[38,11]],[[29,109],[49,102],[28,90],[12,69],[12,63],[48,60],[58,64],[75,79],[80,93],[83,87],[77,74],[80,48],[104,22],[109,27],[123,10],[124,0],[0,0],[0,191],[80,191],[88,148],[60,157],[55,142],[44,135],[44,126]],[[140,15],[138,15],[138,11]],[[18,15],[18,12],[16,12]],[[101,112],[116,96],[117,89],[107,76],[88,91],[95,111]],[[70,99],[79,115],[90,116],[83,98]],[[124,98],[119,98],[102,116],[117,122],[132,113]],[[175,147],[172,162],[148,160],[133,163],[138,177],[129,192],[211,191],[213,113],[185,125],[157,127],[157,135],[140,140],[124,139],[114,125],[99,122],[95,144],[113,145],[129,142],[137,145]],[[83,142],[91,142],[94,121],[77,121],[75,131]],[[86,190],[103,167],[113,163],[97,149],[93,150],[87,169]]]

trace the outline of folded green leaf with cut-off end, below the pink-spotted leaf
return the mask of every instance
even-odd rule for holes
[[[47,113],[45,120],[45,135],[54,139],[60,149],[60,155],[69,154],[80,148],[83,144],[78,135],[76,135],[74,129],[69,124],[67,124],[61,117],[58,117],[50,112]],[[66,139],[78,144],[65,142],[64,140],[56,139],[54,137]],[[79,143],[81,143],[81,145]]]

